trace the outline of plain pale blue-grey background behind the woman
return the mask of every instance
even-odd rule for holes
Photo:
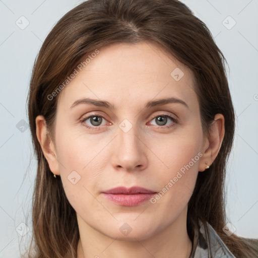
[[[24,127],[22,133],[16,125],[21,119],[28,122],[26,98],[32,66],[53,25],[81,2],[0,1],[0,257],[20,257],[19,243],[23,250],[31,237],[36,161],[29,130]],[[258,1],[182,2],[207,24],[229,64],[237,121],[226,180],[227,222],[238,235],[258,238]],[[29,21],[24,30],[16,25],[21,16]],[[222,23],[233,25],[228,16],[236,22],[230,30]],[[16,231],[24,229],[21,223],[29,229],[22,242]]]

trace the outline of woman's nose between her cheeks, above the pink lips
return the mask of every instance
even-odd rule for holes
[[[139,134],[136,126],[124,132],[119,127],[118,135],[113,143],[112,166],[116,170],[136,172],[146,169],[148,160],[143,135]]]

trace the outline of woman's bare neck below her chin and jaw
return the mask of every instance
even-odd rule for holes
[[[186,211],[165,229],[141,241],[137,238],[135,241],[113,239],[77,216],[80,231],[77,258],[188,258],[191,252],[192,243],[186,230]]]

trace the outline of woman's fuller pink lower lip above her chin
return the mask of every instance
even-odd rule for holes
[[[148,200],[150,200],[156,193],[136,193],[134,195],[123,195],[123,194],[113,194],[113,193],[103,193],[104,196],[122,206],[137,206]]]

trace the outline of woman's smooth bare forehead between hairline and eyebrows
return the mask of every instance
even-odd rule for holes
[[[82,58],[84,66],[61,91],[58,102],[66,109],[82,97],[111,99],[118,106],[168,96],[197,101],[192,72],[156,44],[115,43],[98,51]]]

